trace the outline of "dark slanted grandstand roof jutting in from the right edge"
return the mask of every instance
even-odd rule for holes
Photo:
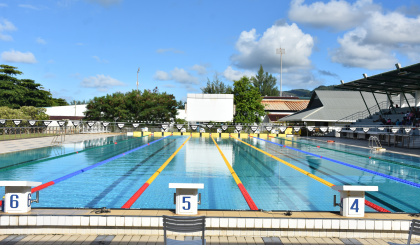
[[[399,94],[420,90],[420,63],[335,86],[338,89]]]

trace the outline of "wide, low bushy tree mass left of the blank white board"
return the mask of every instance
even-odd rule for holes
[[[176,116],[177,101],[172,94],[159,93],[158,88],[116,92],[95,97],[86,106],[88,120],[106,121],[170,121]],[[116,119],[118,118],[118,119]]]

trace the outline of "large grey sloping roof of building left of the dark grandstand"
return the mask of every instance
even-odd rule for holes
[[[362,92],[368,107],[376,105],[372,93]],[[376,95],[379,102],[385,101],[386,96]],[[336,122],[354,113],[366,110],[366,105],[359,92],[316,90],[305,110],[283,117],[279,121],[318,121]],[[342,122],[353,122],[353,119]]]

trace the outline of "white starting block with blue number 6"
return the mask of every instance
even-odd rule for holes
[[[32,202],[39,201],[39,194],[37,192],[37,199],[32,200],[32,186],[38,186],[42,182],[33,181],[0,181],[0,186],[5,186],[5,197],[3,200],[3,211],[5,213],[27,213],[31,211]]]

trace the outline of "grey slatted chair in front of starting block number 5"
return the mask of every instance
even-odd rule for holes
[[[165,245],[170,244],[206,244],[204,238],[204,230],[206,228],[206,218],[200,217],[176,217],[163,215],[163,235]],[[201,239],[180,241],[166,237],[166,231],[179,232],[179,233],[190,233],[201,231]]]

